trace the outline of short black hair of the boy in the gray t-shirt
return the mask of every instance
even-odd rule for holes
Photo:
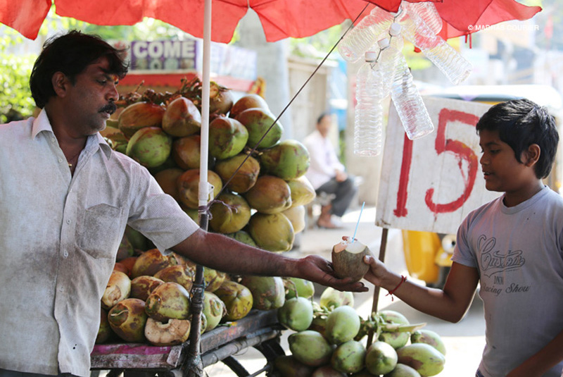
[[[540,158],[536,163],[536,177],[545,178],[550,174],[559,134],[555,118],[545,107],[529,99],[514,99],[502,102],[488,109],[476,125],[481,130],[498,131],[502,142],[510,145],[514,156],[521,163],[520,156],[531,144],[540,147]]]

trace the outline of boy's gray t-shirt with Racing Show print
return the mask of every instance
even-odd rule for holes
[[[503,198],[464,219],[453,256],[479,270],[485,377],[506,376],[563,330],[563,199],[547,186],[517,206]],[[562,368],[544,376],[559,377]]]

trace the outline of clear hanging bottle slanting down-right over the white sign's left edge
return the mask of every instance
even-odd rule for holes
[[[434,125],[403,56],[403,37],[400,30],[400,25],[396,23],[391,26],[390,44],[381,49],[379,63],[384,79],[392,78],[391,99],[407,137],[415,140],[434,131]]]

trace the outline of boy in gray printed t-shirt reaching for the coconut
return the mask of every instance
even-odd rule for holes
[[[563,198],[543,185],[555,120],[527,99],[491,107],[476,125],[487,190],[504,192],[457,231],[443,290],[405,282],[373,257],[365,278],[426,314],[462,319],[478,283],[486,346],[478,377],[559,377],[563,369]]]

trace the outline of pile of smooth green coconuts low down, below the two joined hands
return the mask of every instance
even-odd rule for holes
[[[293,330],[290,355],[274,361],[277,377],[425,377],[443,370],[440,335],[411,324],[398,311],[382,310],[362,319],[351,292],[327,288],[320,302],[289,299],[279,321]],[[373,342],[362,342],[368,333]]]

